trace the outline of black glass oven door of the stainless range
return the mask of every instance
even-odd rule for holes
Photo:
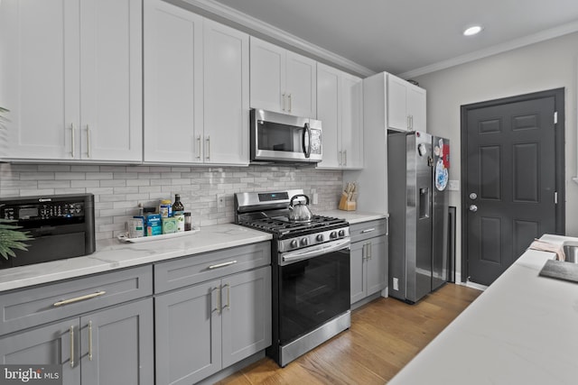
[[[310,258],[280,261],[281,345],[292,342],[350,310],[349,245],[347,240],[337,250],[328,248]]]

